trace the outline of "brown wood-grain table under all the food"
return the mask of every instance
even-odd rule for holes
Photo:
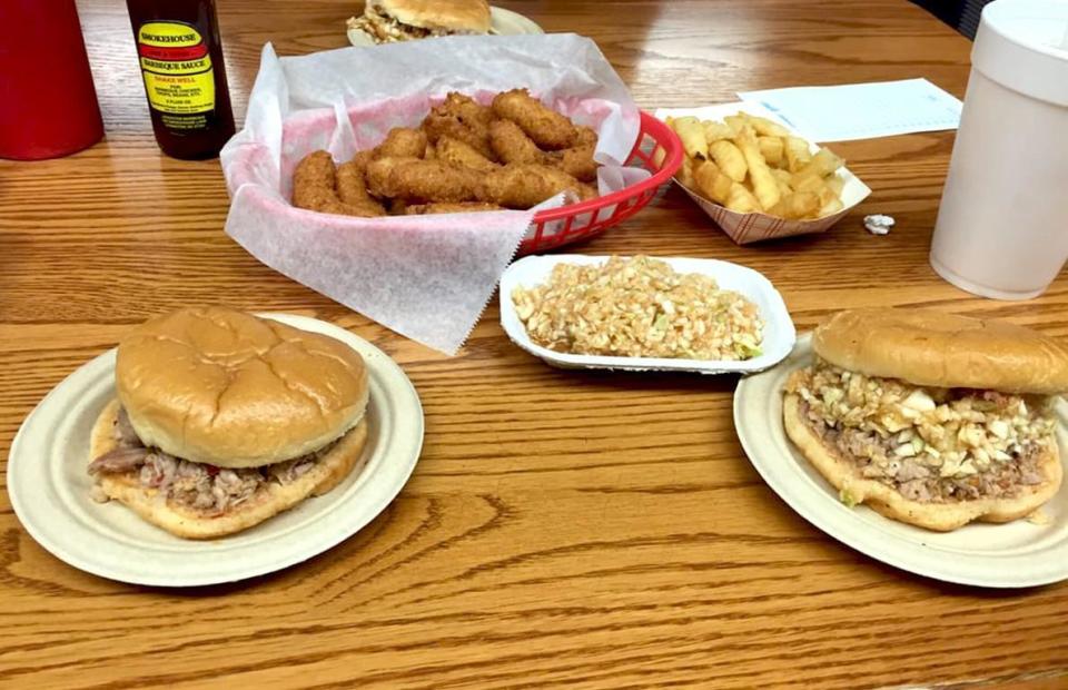
[[[281,55],[342,47],[357,4],[219,2],[239,118],[265,41]],[[962,96],[968,75],[969,43],[904,0],[500,4],[594,38],[646,108],[921,76]],[[357,536],[192,591],[69,568],[4,492],[0,687],[1068,687],[1068,586],[942,584],[825,536],[743,455],[734,378],[554,371],[508,343],[495,307],[449,358],[260,265],[222,233],[218,164],[156,148],[123,3],[79,8],[107,141],[0,162],[0,454],[52,386],[130,326],[219,302],[375,343],[418,388],[426,443]],[[1068,335],[1068,280],[1005,304],[928,266],[952,140],[835,147],[874,193],[825,236],[740,248],[672,189],[580,250],[740,262],[778,285],[802,331],[840,307],[898,304]],[[897,218],[891,235],[861,228],[874,211]]]

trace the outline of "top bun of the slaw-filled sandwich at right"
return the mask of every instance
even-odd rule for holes
[[[923,309],[849,309],[815,329],[812,347],[840,368],[918,386],[1068,391],[1068,346],[1005,322]]]

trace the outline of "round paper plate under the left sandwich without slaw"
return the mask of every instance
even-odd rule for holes
[[[53,388],[23,422],[8,457],[8,493],[27,532],[56,558],[136,584],[233,582],[305,561],[352,536],[404,486],[423,446],[423,407],[404,372],[366,341],[314,318],[264,314],[358,352],[370,402],[363,466],[326,495],[245,532],[212,541],[172,536],[117,501],[89,497],[89,432],[115,396],[115,351]]]

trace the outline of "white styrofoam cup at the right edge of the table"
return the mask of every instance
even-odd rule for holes
[[[996,299],[1046,290],[1068,260],[1068,1],[982,11],[931,266]]]

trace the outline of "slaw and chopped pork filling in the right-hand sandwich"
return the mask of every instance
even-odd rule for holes
[[[817,359],[794,372],[811,428],[861,476],[926,503],[1012,497],[1045,481],[1054,443],[1049,398],[970,388],[919,387]]]

